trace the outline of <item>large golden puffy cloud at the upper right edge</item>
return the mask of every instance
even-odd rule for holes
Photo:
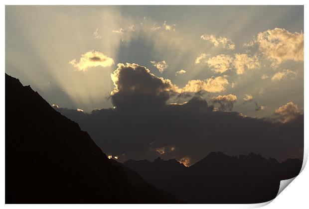
[[[304,61],[304,33],[291,33],[283,28],[260,32],[257,37],[244,46],[257,44],[259,51],[269,60],[272,67],[287,60]]]

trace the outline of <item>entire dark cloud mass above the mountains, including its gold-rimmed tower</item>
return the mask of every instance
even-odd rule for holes
[[[115,108],[91,113],[54,108],[79,123],[107,155],[117,156],[118,161],[160,156],[187,159],[193,164],[213,151],[228,155],[255,152],[279,161],[303,157],[304,115],[297,114],[282,123],[216,111],[200,91],[179,89],[137,64],[118,64],[111,77],[115,88],[110,98]],[[187,102],[169,104],[178,97],[187,98]],[[236,99],[224,95],[210,102],[220,104],[221,110],[232,110]],[[286,110],[296,108],[287,107],[280,108],[278,114],[290,116]]]

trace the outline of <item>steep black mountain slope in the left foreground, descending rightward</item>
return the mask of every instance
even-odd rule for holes
[[[112,162],[79,125],[5,74],[5,203],[178,203]]]

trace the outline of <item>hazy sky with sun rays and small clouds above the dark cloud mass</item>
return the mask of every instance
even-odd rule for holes
[[[288,48],[304,41],[303,6],[6,6],[5,22],[6,73],[50,104],[112,107],[111,73],[118,63],[136,63],[179,88],[226,76],[222,91],[204,97],[232,94],[233,110],[246,115],[270,116],[288,102],[304,109],[304,45],[296,56]],[[287,55],[272,54],[267,37],[257,40],[275,28]],[[112,62],[72,65],[87,52]],[[255,102],[265,108],[256,111]]]

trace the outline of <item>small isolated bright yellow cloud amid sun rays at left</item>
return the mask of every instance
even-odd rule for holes
[[[78,71],[88,71],[91,67],[109,67],[114,65],[114,60],[98,51],[89,51],[81,55],[79,62],[71,60],[69,62]]]

